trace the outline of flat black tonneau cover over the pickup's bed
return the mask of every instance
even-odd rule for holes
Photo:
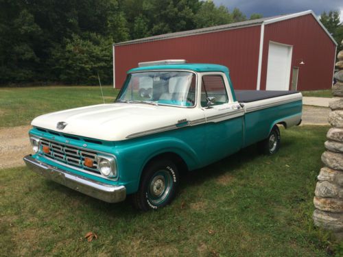
[[[272,97],[296,94],[298,91],[274,91],[274,90],[235,90],[235,95],[239,103],[249,103]]]

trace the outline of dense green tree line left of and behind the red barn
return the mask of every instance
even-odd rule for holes
[[[114,42],[245,20],[209,0],[0,0],[0,84],[110,83]]]

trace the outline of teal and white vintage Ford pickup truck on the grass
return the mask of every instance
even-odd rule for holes
[[[52,112],[32,121],[27,166],[106,202],[140,210],[175,197],[180,173],[258,143],[280,146],[278,125],[298,125],[296,91],[233,90],[226,66],[182,60],[140,63],[114,103]]]

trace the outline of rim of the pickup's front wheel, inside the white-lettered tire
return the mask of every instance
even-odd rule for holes
[[[154,205],[162,204],[167,199],[172,188],[172,180],[169,171],[158,171],[150,180],[147,197]]]

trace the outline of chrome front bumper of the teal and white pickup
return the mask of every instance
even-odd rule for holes
[[[108,203],[117,203],[123,201],[126,198],[125,186],[113,186],[110,184],[104,184],[95,180],[75,175],[69,171],[58,169],[49,164],[40,162],[31,155],[24,157],[24,162],[32,169],[32,171],[43,175],[49,180],[54,180],[64,186],[67,186],[75,191],[84,193],[91,197],[107,201]]]

